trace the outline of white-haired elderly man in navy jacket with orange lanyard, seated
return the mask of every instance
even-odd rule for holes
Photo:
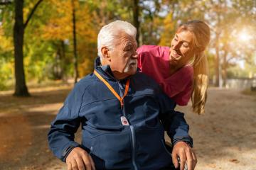
[[[98,35],[94,73],[75,85],[53,121],[48,141],[68,169],[184,169],[196,166],[183,113],[156,82],[137,72],[136,29],[125,21]],[[82,143],[74,134],[82,125]],[[174,145],[165,147],[164,130]]]

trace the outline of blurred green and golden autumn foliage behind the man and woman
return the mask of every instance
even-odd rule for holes
[[[38,0],[24,1],[24,21]],[[97,33],[117,19],[133,23],[133,1],[75,0],[77,16],[78,65],[80,77],[93,70],[97,57]],[[140,45],[171,46],[180,23],[202,19],[209,23],[212,38],[206,52],[210,78],[215,74],[215,47],[220,49],[220,63],[226,55],[228,77],[248,77],[255,73],[256,4],[254,1],[139,1]],[[0,6],[0,89],[14,81],[14,4]],[[243,28],[250,32],[250,42],[238,35]],[[25,30],[24,64],[26,79],[38,82],[73,77],[73,34],[71,0],[43,1]],[[250,31],[249,31],[250,30]],[[216,35],[219,33],[218,43]],[[245,69],[236,67],[238,60],[247,62]]]

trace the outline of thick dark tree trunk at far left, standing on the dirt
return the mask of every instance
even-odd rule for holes
[[[14,59],[16,83],[14,96],[30,96],[23,67],[23,38],[23,0],[15,0]]]

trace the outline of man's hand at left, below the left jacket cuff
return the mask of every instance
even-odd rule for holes
[[[95,170],[92,157],[80,147],[72,149],[68,154],[66,163],[68,164],[68,170]]]

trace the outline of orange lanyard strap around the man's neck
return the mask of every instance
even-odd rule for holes
[[[112,94],[114,94],[114,96],[117,97],[117,99],[120,101],[121,107],[124,106],[124,97],[127,96],[128,93],[128,89],[129,89],[129,79],[127,80],[127,83],[125,84],[125,91],[124,91],[124,96],[122,96],[122,98],[117,94],[116,91],[114,91],[114,89],[112,88],[112,86],[110,86],[110,84],[95,70],[94,74],[97,76],[97,78],[99,78],[106,86],[108,89],[110,89],[110,91],[112,92]]]

